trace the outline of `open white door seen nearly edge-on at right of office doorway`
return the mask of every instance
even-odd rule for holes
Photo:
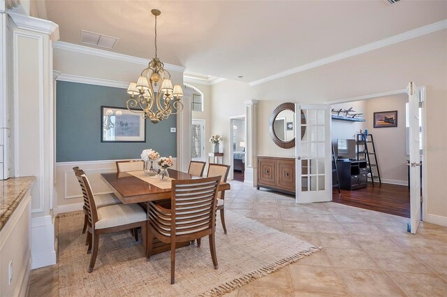
[[[420,113],[422,102],[420,90],[414,82],[410,82],[409,96],[409,126],[410,126],[410,231],[416,233],[420,223]]]

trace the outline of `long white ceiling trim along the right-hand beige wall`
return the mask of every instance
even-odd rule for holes
[[[286,71],[281,71],[279,73],[266,76],[265,78],[261,78],[259,80],[254,80],[252,82],[249,82],[249,85],[252,87],[255,85],[261,85],[264,82],[270,82],[271,80],[277,80],[278,78],[284,78],[285,76],[292,75],[295,73],[299,73],[302,71],[307,71],[312,68],[316,68],[318,66],[323,66],[325,64],[330,64],[335,61],[339,61],[342,59],[346,59],[349,57],[353,57],[356,55],[363,54],[365,52],[370,52],[372,50],[377,50],[378,48],[384,48],[388,45],[393,45],[395,43],[400,43],[402,41],[407,41],[411,38],[416,38],[423,36],[425,34],[430,34],[442,29],[447,29],[447,19],[441,20],[439,22],[434,22],[433,24],[428,24],[427,26],[420,27],[417,29],[413,29],[410,31],[406,31],[402,34],[397,34],[395,36],[391,36],[385,39],[382,39],[380,41],[375,41],[373,43],[368,43],[367,45],[362,45],[358,48],[353,48],[351,50],[346,50],[344,52],[340,52],[336,55],[332,55],[330,57],[325,57],[323,59],[318,59],[316,61],[312,61],[310,63],[288,69]]]

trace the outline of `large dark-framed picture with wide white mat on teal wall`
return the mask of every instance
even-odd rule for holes
[[[101,106],[101,143],[145,143],[145,119],[127,108]]]

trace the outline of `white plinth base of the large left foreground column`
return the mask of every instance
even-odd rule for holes
[[[54,222],[52,216],[31,219],[31,269],[56,263]]]

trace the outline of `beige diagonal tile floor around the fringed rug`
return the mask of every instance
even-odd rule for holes
[[[296,205],[291,196],[231,182],[226,208],[323,246],[226,296],[447,296],[447,228],[337,203]],[[230,224],[230,222],[227,222]],[[57,296],[57,265],[33,270],[29,296]]]

